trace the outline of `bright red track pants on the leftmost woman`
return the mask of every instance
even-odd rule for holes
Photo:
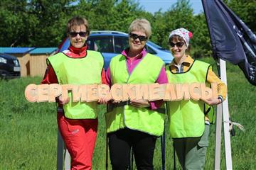
[[[58,128],[71,156],[71,170],[92,169],[97,119],[68,119],[57,114]]]

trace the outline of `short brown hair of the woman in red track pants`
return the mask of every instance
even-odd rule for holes
[[[70,33],[71,29],[74,26],[82,26],[82,25],[85,26],[87,35],[89,35],[90,34],[89,23],[88,23],[87,19],[80,17],[80,16],[74,16],[73,18],[71,18],[68,21],[66,32]]]

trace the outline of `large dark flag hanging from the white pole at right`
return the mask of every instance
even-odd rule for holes
[[[238,64],[256,86],[256,35],[221,0],[202,0],[215,60]]]

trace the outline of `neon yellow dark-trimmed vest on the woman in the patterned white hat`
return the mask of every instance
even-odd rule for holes
[[[187,72],[172,73],[169,66],[166,74],[169,83],[206,83],[210,64],[195,60]],[[203,101],[168,101],[167,112],[169,113],[170,133],[173,138],[201,137],[205,128],[205,106]]]

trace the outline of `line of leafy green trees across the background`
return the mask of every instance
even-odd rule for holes
[[[256,30],[256,1],[224,0],[252,31]],[[161,2],[159,2],[161,3]],[[203,11],[195,14],[189,0],[178,0],[163,12],[147,12],[133,0],[1,0],[0,47],[57,47],[65,38],[65,26],[73,16],[85,16],[91,30],[127,33],[135,18],[146,18],[151,40],[168,49],[171,30],[191,30],[191,55],[211,55],[210,37]]]

